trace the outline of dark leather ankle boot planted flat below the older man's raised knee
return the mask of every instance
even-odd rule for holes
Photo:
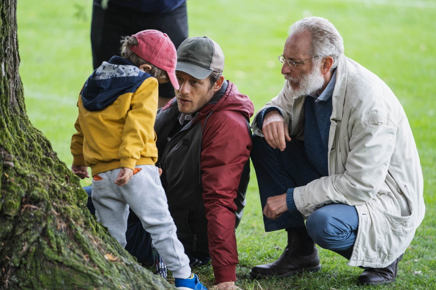
[[[251,269],[254,278],[269,276],[286,277],[303,271],[321,270],[317,247],[304,230],[289,230],[288,245],[283,254],[274,262],[257,265]]]

